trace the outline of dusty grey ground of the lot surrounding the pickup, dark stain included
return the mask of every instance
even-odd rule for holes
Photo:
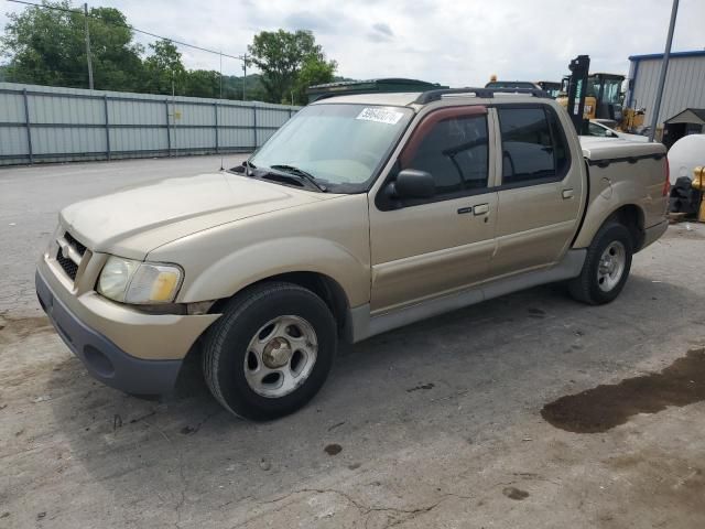
[[[275,422],[221,411],[195,364],[161,401],[94,382],[33,298],[56,212],[217,166],[0,171],[0,527],[705,527],[703,225],[610,305],[551,285],[346,347]]]

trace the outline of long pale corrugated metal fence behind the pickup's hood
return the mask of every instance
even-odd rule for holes
[[[252,151],[297,109],[0,83],[0,165]]]

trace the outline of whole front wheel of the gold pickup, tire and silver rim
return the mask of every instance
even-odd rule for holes
[[[292,283],[264,283],[236,295],[204,344],[204,376],[239,417],[292,413],[323,386],[335,356],[336,324],[316,294]]]

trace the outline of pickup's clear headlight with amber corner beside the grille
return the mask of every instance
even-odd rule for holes
[[[98,278],[98,292],[123,303],[171,303],[184,274],[175,264],[110,257]]]

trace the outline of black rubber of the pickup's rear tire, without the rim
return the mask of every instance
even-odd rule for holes
[[[619,281],[610,290],[605,291],[598,281],[598,268],[603,253],[615,241],[623,246],[625,268]],[[601,305],[614,301],[625,288],[631,269],[633,241],[629,229],[617,222],[607,222],[599,228],[588,247],[581,274],[568,282],[571,296],[590,305]]]

